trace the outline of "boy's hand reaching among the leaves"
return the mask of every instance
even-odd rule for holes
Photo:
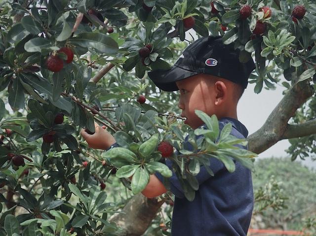
[[[84,129],[81,129],[80,135],[86,140],[89,147],[95,149],[108,149],[112,144],[114,144],[115,138],[108,131],[106,131],[106,126],[99,126],[94,122],[95,133],[89,135]]]

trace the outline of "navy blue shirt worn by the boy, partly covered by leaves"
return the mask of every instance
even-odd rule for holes
[[[231,135],[246,138],[248,130],[237,119],[224,117],[219,119],[219,128],[232,123]],[[192,145],[185,139],[185,145],[193,150]],[[236,144],[246,149],[247,147]],[[168,178],[170,191],[175,195],[171,235],[172,236],[246,236],[250,225],[254,196],[251,171],[236,162],[236,170],[230,173],[224,164],[216,158],[210,158],[211,176],[200,167],[196,175],[199,188],[194,201],[188,201],[182,187],[173,172]],[[172,170],[172,162],[166,159],[166,165]],[[156,172],[155,175],[163,183],[164,177]]]

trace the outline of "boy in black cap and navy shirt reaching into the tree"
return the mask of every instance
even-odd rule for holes
[[[180,91],[179,108],[185,124],[196,129],[203,122],[195,114],[201,110],[215,114],[220,130],[232,123],[231,135],[246,138],[246,127],[237,120],[237,102],[248,84],[248,77],[255,68],[250,59],[239,62],[239,50],[225,45],[221,36],[197,39],[189,45],[173,67],[148,73],[150,79],[164,91]],[[94,135],[81,132],[90,147],[108,149],[116,146],[115,139],[107,131],[96,128]],[[192,148],[185,139],[184,145]],[[240,146],[241,148],[246,148]],[[246,236],[253,210],[251,171],[235,162],[236,170],[230,173],[224,164],[210,159],[214,176],[201,166],[197,174],[199,189],[195,199],[189,202],[173,173],[169,178],[170,191],[175,195],[172,215],[172,236]],[[172,170],[172,162],[166,159]],[[150,176],[150,182],[142,194],[157,197],[167,191],[160,173]]]

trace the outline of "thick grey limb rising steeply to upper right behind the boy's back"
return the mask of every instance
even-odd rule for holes
[[[289,136],[289,133],[285,133],[289,129],[288,127],[292,129],[292,126],[288,125],[289,119],[295,115],[296,110],[313,94],[314,89],[310,85],[309,80],[295,84],[276,105],[265,124],[258,131],[247,137],[249,151],[257,154],[262,153],[279,140],[284,139],[284,134]],[[306,134],[309,135],[310,133]],[[300,133],[300,135],[303,135],[303,133]]]

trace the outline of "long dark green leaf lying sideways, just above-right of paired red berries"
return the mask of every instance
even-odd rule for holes
[[[69,42],[81,47],[92,47],[100,53],[115,54],[118,51],[118,43],[112,37],[101,33],[80,33],[69,39]]]

